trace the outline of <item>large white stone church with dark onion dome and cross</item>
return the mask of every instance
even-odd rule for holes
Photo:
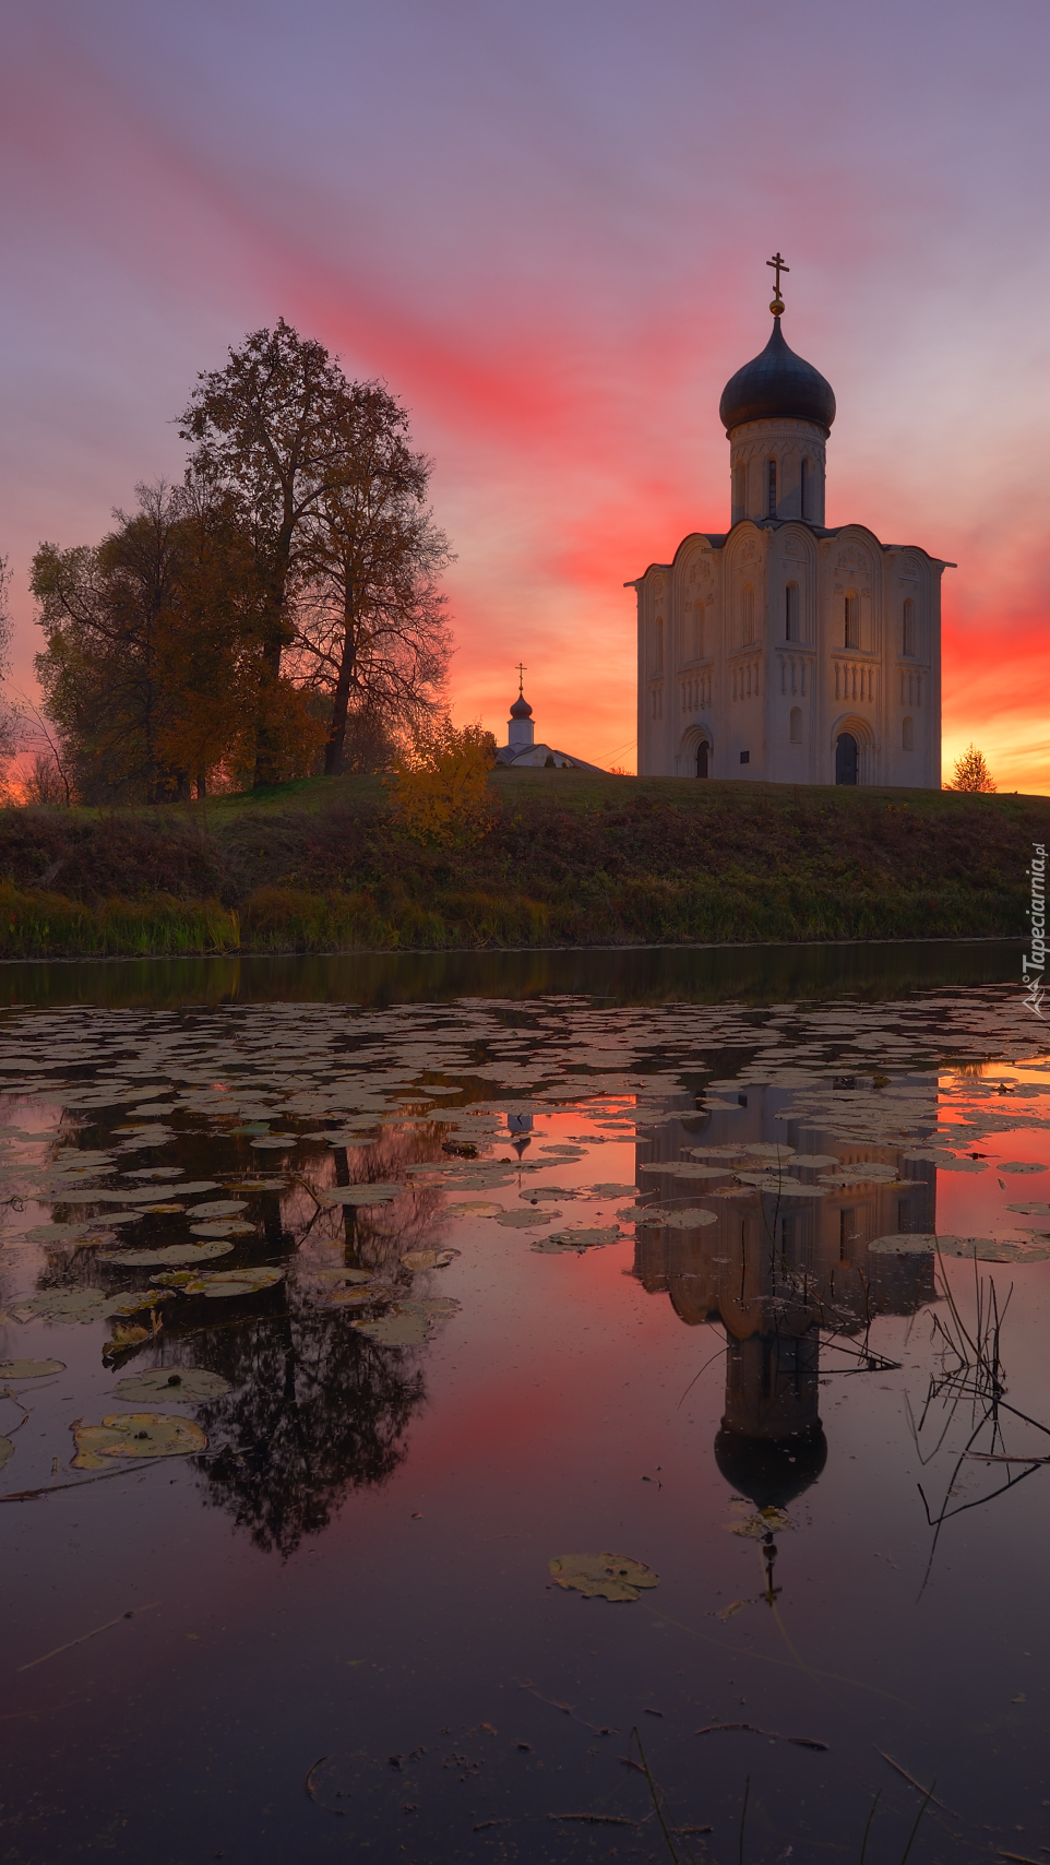
[[[718,408],[729,530],[692,532],[625,584],[638,774],[940,789],[940,576],[955,565],[824,526],[836,397],[787,347],[780,291],[770,311]]]

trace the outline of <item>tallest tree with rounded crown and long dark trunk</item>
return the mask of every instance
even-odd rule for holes
[[[304,522],[345,476],[349,397],[325,345],[300,338],[282,317],[274,330],[256,330],[231,349],[224,369],[201,375],[181,416],[179,433],[194,442],[190,474],[237,502],[256,552],[263,668],[257,783],[278,776],[267,686],[280,679],[282,655],[295,640],[289,593]]]

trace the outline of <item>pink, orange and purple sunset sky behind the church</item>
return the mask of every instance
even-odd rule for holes
[[[634,768],[634,593],[724,530],[725,379],[837,395],[828,524],[944,576],[946,770],[1050,793],[1043,0],[7,0],[0,552],[177,477],[198,369],[287,317],[435,455],[455,718]]]

